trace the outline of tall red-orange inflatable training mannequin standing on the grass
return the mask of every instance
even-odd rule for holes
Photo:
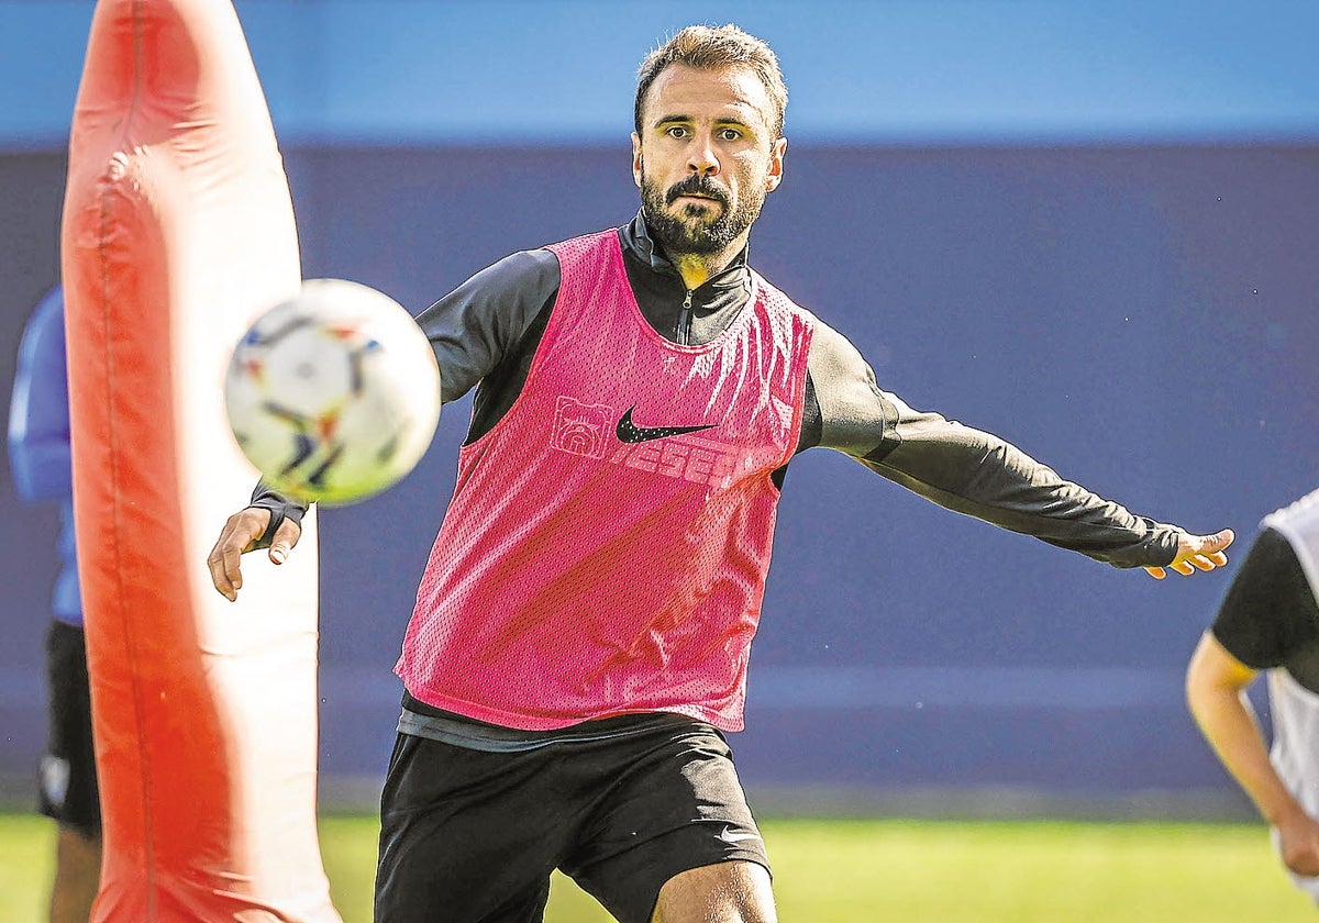
[[[233,343],[301,285],[230,0],[99,0],[62,229],[74,516],[104,818],[95,920],[339,920],[315,827],[315,522],[243,599],[206,555],[256,473]]]

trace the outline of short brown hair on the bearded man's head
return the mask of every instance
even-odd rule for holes
[[[637,100],[633,121],[641,133],[641,107],[646,102],[650,84],[669,65],[686,65],[698,70],[714,70],[741,65],[754,71],[765,84],[770,102],[774,104],[774,120],[770,128],[774,137],[783,134],[783,111],[787,108],[787,86],[783,73],[778,69],[778,57],[769,45],[729,22],[721,26],[689,25],[667,42],[646,55],[637,69]]]

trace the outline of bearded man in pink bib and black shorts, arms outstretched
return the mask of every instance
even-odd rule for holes
[[[1155,578],[1225,560],[1231,531],[1133,516],[913,410],[748,265],[786,98],[762,41],[683,29],[640,70],[636,218],[418,318],[443,398],[476,397],[397,665],[379,920],[537,920],[555,868],[624,923],[774,919],[724,733],[797,452]],[[299,512],[259,488],[210,555],[216,589],[236,597],[243,551],[285,560]]]

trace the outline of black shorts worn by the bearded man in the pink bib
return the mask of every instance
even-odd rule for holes
[[[376,923],[541,920],[554,869],[649,923],[679,872],[769,869],[728,745],[696,721],[514,753],[398,734],[380,815]]]

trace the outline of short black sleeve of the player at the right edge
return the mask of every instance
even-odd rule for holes
[[[1285,666],[1319,636],[1314,591],[1282,533],[1265,529],[1228,585],[1210,629],[1248,667]]]

